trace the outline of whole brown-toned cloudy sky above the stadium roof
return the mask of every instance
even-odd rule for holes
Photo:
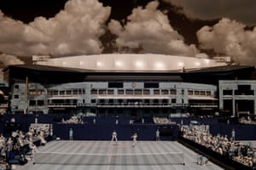
[[[1,0],[0,64],[137,53],[256,65],[254,11],[255,0]]]

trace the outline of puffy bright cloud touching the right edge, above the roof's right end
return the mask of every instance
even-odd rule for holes
[[[214,49],[219,54],[229,55],[237,63],[256,65],[256,28],[236,20],[222,19],[215,26],[204,26],[197,32],[201,48]]]

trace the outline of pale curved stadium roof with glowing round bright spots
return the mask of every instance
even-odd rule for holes
[[[99,71],[177,71],[224,66],[214,59],[164,54],[96,54],[38,61],[38,65]]]

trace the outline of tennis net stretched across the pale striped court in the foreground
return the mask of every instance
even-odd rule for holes
[[[36,152],[34,163],[66,165],[165,165],[183,164],[182,152],[132,154],[78,154]]]

